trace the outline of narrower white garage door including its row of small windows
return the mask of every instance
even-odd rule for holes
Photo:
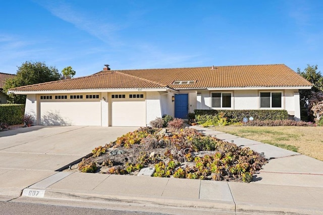
[[[143,93],[110,95],[112,126],[146,126],[146,101]]]

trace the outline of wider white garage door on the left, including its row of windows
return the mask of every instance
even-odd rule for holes
[[[89,95],[42,95],[40,122],[42,125],[101,126],[99,98],[99,95],[91,95],[91,98]]]

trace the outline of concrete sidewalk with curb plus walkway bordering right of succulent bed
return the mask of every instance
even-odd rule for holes
[[[216,130],[193,127],[271,158],[253,182],[48,172],[22,198],[200,208],[209,213],[322,214],[323,162]],[[4,171],[4,170],[1,170]],[[1,176],[1,173],[0,173]],[[10,190],[8,191],[8,194]]]

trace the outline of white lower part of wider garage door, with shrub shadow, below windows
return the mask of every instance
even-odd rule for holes
[[[43,125],[101,125],[100,102],[41,102]]]

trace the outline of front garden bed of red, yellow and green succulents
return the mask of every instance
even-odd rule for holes
[[[155,167],[154,177],[250,182],[267,163],[259,153],[192,128],[150,128],[97,147],[71,169],[80,172],[137,175]],[[67,170],[71,171],[71,170]]]

